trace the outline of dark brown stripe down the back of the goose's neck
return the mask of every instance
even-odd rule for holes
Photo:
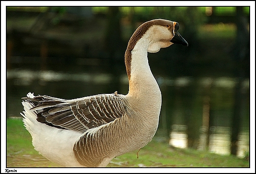
[[[139,26],[134,33],[132,34],[128,46],[125,53],[125,64],[126,64],[126,71],[128,75],[128,80],[130,80],[130,71],[131,71],[131,51],[133,50],[134,46],[138,42],[138,40],[143,36],[143,34],[155,23],[153,21],[146,22]]]

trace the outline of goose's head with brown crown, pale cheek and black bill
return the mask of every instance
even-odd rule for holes
[[[160,48],[169,47],[172,44],[188,46],[188,42],[178,32],[179,23],[155,19],[148,21],[136,29],[134,34],[146,37],[149,41],[148,52],[156,53]]]

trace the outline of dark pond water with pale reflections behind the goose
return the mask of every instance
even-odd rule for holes
[[[72,99],[99,93],[113,93],[106,73],[65,73],[12,69],[7,71],[7,117],[20,116],[21,97],[28,92]],[[231,121],[234,104],[234,78],[176,79],[156,77],[162,92],[162,109],[156,136],[168,137],[169,144],[179,148],[208,149],[230,154]],[[120,91],[127,94],[128,79],[120,76]],[[108,90],[106,90],[108,89]],[[110,89],[110,90],[109,90]],[[242,118],[238,157],[249,151],[249,80],[242,83]]]

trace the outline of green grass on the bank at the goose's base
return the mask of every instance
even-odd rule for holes
[[[21,119],[7,119],[6,167],[61,167],[33,149],[32,138]],[[249,161],[207,151],[180,149],[156,137],[137,151],[117,156],[107,167],[249,167]]]

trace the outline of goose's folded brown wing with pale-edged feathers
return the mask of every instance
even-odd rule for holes
[[[78,99],[64,100],[50,96],[22,98],[30,102],[30,111],[36,112],[37,121],[62,129],[84,133],[86,130],[107,124],[124,115],[124,95],[98,94]]]

